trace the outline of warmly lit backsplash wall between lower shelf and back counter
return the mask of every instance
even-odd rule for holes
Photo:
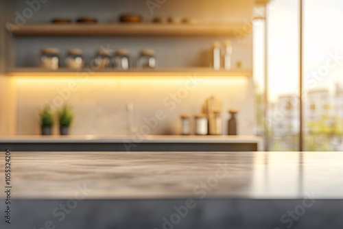
[[[251,77],[21,77],[16,79],[16,93],[17,134],[40,134],[36,110],[46,103],[53,108],[63,103],[73,106],[71,134],[128,134],[128,103],[134,104],[138,130],[163,110],[165,118],[147,134],[179,134],[180,115],[201,113],[202,103],[211,95],[222,100],[224,133],[227,110],[237,108],[238,133],[255,134]],[[58,134],[57,126],[54,133]]]

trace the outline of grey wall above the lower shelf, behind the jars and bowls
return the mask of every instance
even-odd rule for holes
[[[12,18],[15,12],[23,15],[28,7],[25,1],[12,1]],[[144,21],[149,22],[155,16],[194,17],[204,23],[242,23],[250,20],[253,0],[225,1],[225,0],[187,0],[165,1],[160,8],[155,8],[151,14],[146,1],[47,1],[42,3],[37,12],[27,19],[26,23],[49,23],[56,17],[66,17],[75,20],[78,16],[90,15],[99,22],[117,21],[120,14],[125,12],[139,13]],[[64,57],[67,49],[80,48],[84,50],[85,58],[89,60],[100,47],[110,49],[130,49],[132,57],[137,56],[140,49],[156,50],[160,67],[208,67],[210,50],[213,40],[225,38],[18,38],[16,49],[16,65],[20,67],[34,67],[39,64],[39,51],[43,47],[58,47]],[[233,62],[241,60],[244,67],[252,67],[252,38],[237,40],[232,38],[234,46]]]

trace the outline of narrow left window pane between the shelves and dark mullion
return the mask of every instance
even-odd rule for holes
[[[267,5],[268,106],[265,141],[270,151],[296,151],[299,145],[299,4]],[[283,128],[281,128],[283,127]]]

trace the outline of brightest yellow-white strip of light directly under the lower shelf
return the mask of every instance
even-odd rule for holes
[[[21,88],[37,89],[38,91],[47,91],[49,88],[55,90],[56,88],[119,88],[134,92],[144,91],[164,91],[167,88],[193,88],[204,89],[215,88],[216,86],[230,86],[239,87],[239,85],[246,85],[248,82],[246,77],[196,77],[196,76],[176,76],[176,77],[13,77],[16,85]],[[76,89],[75,89],[76,90]]]

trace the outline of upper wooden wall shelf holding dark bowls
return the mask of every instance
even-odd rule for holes
[[[244,23],[235,24],[27,24],[9,32],[16,36],[244,36],[251,32]]]

